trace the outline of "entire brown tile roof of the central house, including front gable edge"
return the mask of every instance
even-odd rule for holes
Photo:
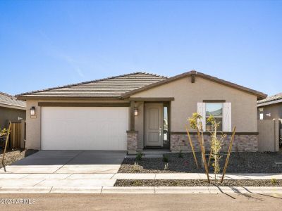
[[[205,75],[204,73],[192,70],[185,72],[174,77],[164,77],[159,75],[153,75],[146,72],[134,72],[127,75],[119,75],[116,77],[108,77],[104,79],[97,79],[90,82],[82,82],[79,84],[69,84],[63,87],[54,87],[50,89],[43,89],[39,91],[32,91],[17,95],[20,99],[25,98],[128,98],[137,92],[152,89],[153,87],[161,86],[168,82],[172,82],[182,77],[188,77],[195,75],[205,79],[212,80],[214,82],[246,91],[250,94],[254,94],[258,99],[266,98],[266,94],[242,87],[238,84],[227,82],[217,77]]]

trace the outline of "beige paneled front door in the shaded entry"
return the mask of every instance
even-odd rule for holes
[[[163,104],[145,104],[145,146],[163,146]]]

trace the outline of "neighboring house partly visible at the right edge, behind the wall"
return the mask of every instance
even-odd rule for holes
[[[282,145],[282,93],[257,101],[258,120],[279,120],[280,145]]]

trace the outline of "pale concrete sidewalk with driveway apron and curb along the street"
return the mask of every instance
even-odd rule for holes
[[[211,179],[214,177],[210,175]],[[177,192],[178,190],[197,192],[195,187],[114,187],[116,179],[206,179],[205,174],[73,174],[73,173],[53,173],[53,174],[15,174],[6,173],[0,174],[0,193],[6,191],[21,192],[21,191],[39,191],[42,193],[62,191],[62,193],[76,192],[90,192],[101,193],[111,191],[135,191],[141,192],[159,192],[161,190]],[[227,174],[226,179],[282,179],[282,174]],[[254,187],[259,190],[260,187]],[[282,187],[281,187],[282,188]],[[144,189],[144,190],[143,190]],[[224,187],[223,189],[226,189]],[[227,188],[229,190],[230,188]],[[240,189],[240,188],[239,188]],[[211,187],[200,187],[199,193],[203,190],[211,191]],[[216,193],[218,188],[213,189]],[[269,188],[266,188],[269,190]],[[272,190],[272,189],[271,189]],[[104,193],[103,192],[103,193]],[[261,191],[262,192],[262,191]]]

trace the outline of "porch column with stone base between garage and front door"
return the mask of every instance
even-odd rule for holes
[[[138,132],[135,131],[135,101],[130,101],[130,130],[127,133],[127,142],[128,142],[128,154],[137,153],[137,138]]]

